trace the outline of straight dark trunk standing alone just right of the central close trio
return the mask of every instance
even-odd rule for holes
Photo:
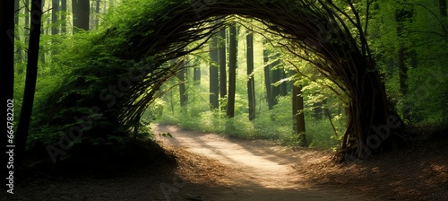
[[[247,100],[249,103],[249,120],[255,119],[255,82],[254,82],[254,33],[246,32],[247,44]]]

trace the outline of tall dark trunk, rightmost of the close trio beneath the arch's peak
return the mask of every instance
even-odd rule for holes
[[[228,41],[228,118],[235,117],[235,92],[237,86],[237,27],[229,27]]]

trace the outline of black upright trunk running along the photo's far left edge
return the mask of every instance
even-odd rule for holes
[[[13,103],[13,92],[14,92],[14,2],[13,1],[0,1],[0,44],[4,51],[0,54],[0,89],[2,89],[2,121],[4,124],[3,133],[3,143],[6,145],[12,145],[13,135],[13,117],[8,115],[12,114],[13,105],[8,106],[8,102]],[[8,110],[10,109],[10,110]],[[9,119],[8,119],[9,118]],[[6,123],[4,122],[6,121]],[[3,128],[3,129],[4,129]],[[11,128],[11,129],[10,129]],[[7,169],[6,162],[9,162],[9,157],[7,152],[13,147],[2,147],[4,150],[2,153],[2,182],[8,184],[9,182],[6,178],[9,177],[9,169]],[[15,171],[15,170],[13,170]],[[2,189],[4,190],[4,189]]]

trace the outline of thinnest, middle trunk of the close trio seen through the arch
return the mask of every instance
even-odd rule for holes
[[[226,29],[220,30],[220,48],[218,49],[220,57],[220,98],[227,95],[227,56],[226,56]]]

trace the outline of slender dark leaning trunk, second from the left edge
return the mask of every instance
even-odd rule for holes
[[[17,127],[17,135],[14,144],[17,148],[17,162],[22,162],[26,151],[26,143],[30,130],[30,119],[36,92],[36,80],[38,76],[39,40],[42,17],[42,0],[33,0],[31,3],[31,27],[30,44],[28,47],[28,65],[26,74],[25,91],[23,92],[22,110]]]

